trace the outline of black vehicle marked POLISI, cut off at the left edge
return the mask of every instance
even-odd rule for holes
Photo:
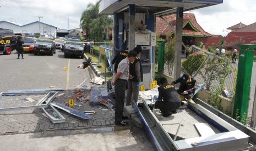
[[[16,38],[13,30],[0,28],[0,53],[9,55],[16,47]]]

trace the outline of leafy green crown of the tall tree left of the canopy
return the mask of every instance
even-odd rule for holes
[[[113,21],[108,15],[99,14],[100,1],[88,4],[80,19],[80,26],[86,31],[86,38],[102,41],[108,30],[112,30]]]

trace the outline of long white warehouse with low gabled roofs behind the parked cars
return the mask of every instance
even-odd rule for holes
[[[40,33],[41,35],[48,35],[56,37],[57,27],[45,24],[43,22],[35,21],[25,25],[18,25],[14,22],[0,21],[0,28],[7,28],[13,30],[13,32],[23,33]]]

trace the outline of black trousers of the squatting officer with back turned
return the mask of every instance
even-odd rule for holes
[[[162,114],[166,114],[167,112],[176,111],[181,106],[180,102],[172,103],[172,102],[165,102],[165,101],[156,101],[155,108],[160,109]]]

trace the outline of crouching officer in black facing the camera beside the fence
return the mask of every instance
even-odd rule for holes
[[[180,83],[179,89],[177,90],[181,101],[185,98],[190,102],[193,94],[195,93],[195,82],[194,78],[190,77],[188,73],[182,75],[182,77],[172,82],[172,85]]]

